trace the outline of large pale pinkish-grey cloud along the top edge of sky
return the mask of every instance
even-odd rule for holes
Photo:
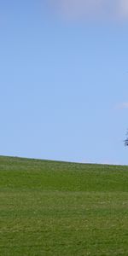
[[[128,20],[128,0],[49,0],[49,3],[68,20]]]

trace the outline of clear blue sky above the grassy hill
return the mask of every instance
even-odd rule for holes
[[[108,3],[0,1],[0,154],[128,165],[128,4]]]

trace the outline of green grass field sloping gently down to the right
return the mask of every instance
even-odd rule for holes
[[[0,157],[0,256],[128,255],[128,167]]]

